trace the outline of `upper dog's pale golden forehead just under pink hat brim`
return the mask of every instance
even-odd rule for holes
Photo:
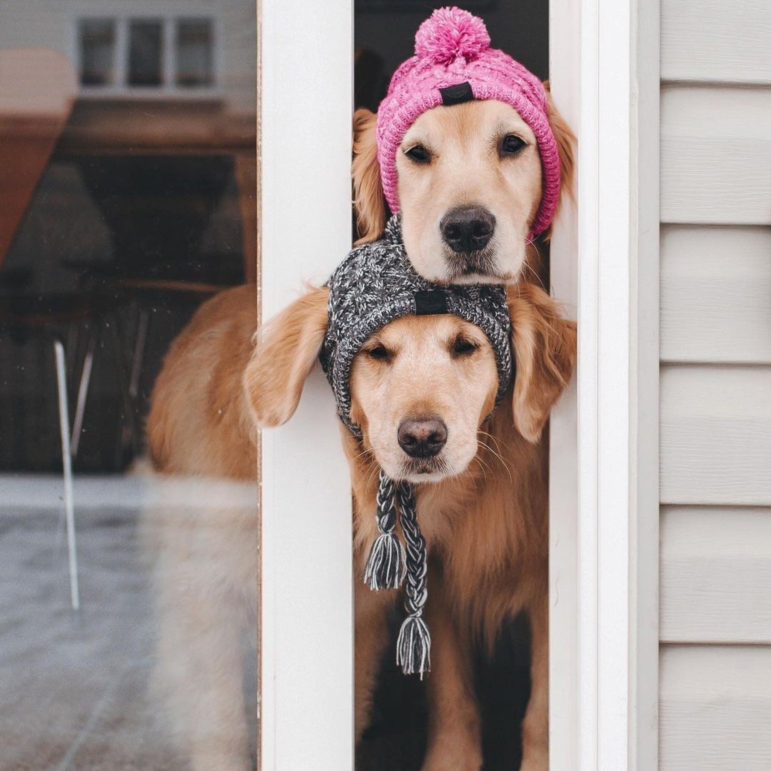
[[[447,136],[487,136],[507,131],[516,131],[524,139],[535,139],[533,130],[510,104],[497,99],[477,99],[427,110],[406,131],[402,145],[418,139],[436,143]]]

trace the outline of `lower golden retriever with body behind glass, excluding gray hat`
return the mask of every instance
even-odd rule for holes
[[[327,295],[325,288],[313,289],[293,302],[261,330],[256,345],[253,288],[226,291],[197,311],[170,349],[153,394],[148,429],[157,470],[254,480],[257,426],[284,423],[295,411],[322,344]],[[342,440],[354,493],[357,574],[362,574],[375,537],[377,469],[405,467],[399,464],[400,455],[407,458],[399,446],[399,423],[406,416],[431,414],[447,426],[441,449],[444,470],[420,484],[417,493],[420,526],[431,555],[426,613],[434,638],[424,771],[480,769],[480,717],[470,652],[480,641],[490,649],[503,621],[520,611],[527,611],[533,636],[523,768],[547,769],[547,447],[539,439],[551,406],[571,377],[575,325],[561,318],[554,301],[532,284],[511,287],[508,295],[517,378],[489,419],[485,416],[497,392],[493,351],[480,329],[455,316],[391,322],[366,342],[352,369],[352,416],[363,437],[354,439],[342,429]],[[471,344],[467,355],[452,353],[459,338]],[[387,361],[372,355],[379,347],[390,352]],[[414,478],[424,479],[419,473]],[[223,527],[229,527],[227,520]],[[238,532],[243,541],[242,523]],[[254,552],[237,548],[221,559],[231,570],[230,577],[221,577],[232,584],[231,593],[237,594],[240,585],[242,594],[253,596]],[[185,591],[187,585],[175,584],[177,601],[167,599],[175,616],[187,615],[167,634],[200,627],[200,634],[212,635],[211,623],[223,614],[220,590],[208,598],[204,590],[187,600],[181,597]],[[388,641],[386,616],[398,600],[397,592],[372,592],[357,582],[357,736],[368,721]],[[209,605],[217,607],[207,610]],[[187,638],[164,641],[163,628],[161,634],[160,654],[183,693],[182,699],[177,697],[184,704],[178,719],[187,720],[187,729],[181,726],[180,732],[194,769],[241,771],[246,763],[243,719],[234,715],[233,705],[224,710],[225,719],[211,710],[236,692],[237,635],[216,634],[217,647],[209,651],[207,665],[200,645],[187,650]],[[227,672],[210,674],[224,663]],[[234,703],[241,708],[240,699]]]

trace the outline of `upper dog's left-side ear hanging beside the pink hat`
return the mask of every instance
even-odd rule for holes
[[[356,245],[369,244],[385,228],[385,197],[380,182],[375,123],[378,116],[365,107],[353,113],[353,205],[356,210]]]

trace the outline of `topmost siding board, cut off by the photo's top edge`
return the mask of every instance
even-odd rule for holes
[[[771,83],[768,0],[662,0],[662,79]]]

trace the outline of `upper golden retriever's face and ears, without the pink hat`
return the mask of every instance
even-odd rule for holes
[[[550,96],[547,115],[562,187],[570,194],[575,137]],[[376,118],[363,108],[354,114],[357,244],[379,238],[387,216]],[[540,157],[533,131],[512,106],[490,99],[429,109],[407,130],[396,168],[404,245],[424,278],[452,284],[538,280],[538,251],[528,234],[540,204]],[[463,227],[478,228],[484,243],[477,237],[468,251],[458,237]]]

